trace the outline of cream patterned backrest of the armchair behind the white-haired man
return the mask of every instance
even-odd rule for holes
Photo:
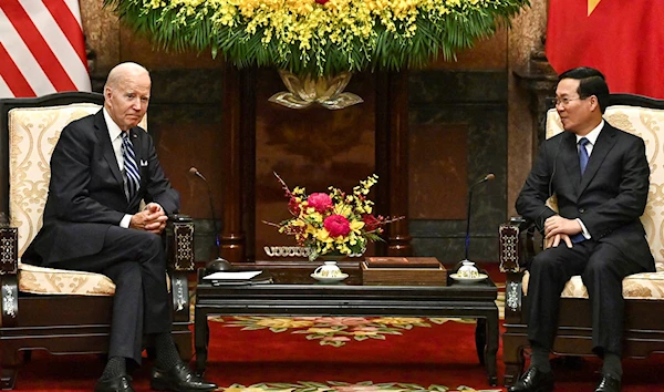
[[[51,178],[51,155],[62,130],[98,112],[97,93],[58,93],[37,99],[0,100],[2,212],[19,231],[19,257],[42,226]],[[147,116],[141,126],[146,128]],[[6,182],[7,179],[7,182]],[[9,184],[9,188],[6,188]]]

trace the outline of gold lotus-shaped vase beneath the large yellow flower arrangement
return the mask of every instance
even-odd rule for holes
[[[268,101],[290,109],[304,109],[314,103],[330,110],[355,105],[364,100],[353,93],[343,92],[352,75],[351,72],[343,72],[334,76],[312,78],[279,70],[279,76],[288,92],[279,92]]]

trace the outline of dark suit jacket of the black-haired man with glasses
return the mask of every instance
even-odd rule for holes
[[[544,220],[557,214],[544,202],[556,194],[560,216],[580,218],[592,239],[612,244],[626,259],[654,271],[640,220],[650,186],[645,144],[604,124],[583,176],[573,133],[544,141],[517,199],[517,212],[543,230]]]

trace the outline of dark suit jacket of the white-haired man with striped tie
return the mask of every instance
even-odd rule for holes
[[[70,123],[51,157],[51,182],[43,227],[25,251],[30,262],[53,262],[97,254],[111,226],[125,214],[136,214],[142,199],[158,203],[166,214],[179,208],[152,137],[141,127],[129,130],[141,187],[127,200],[103,111]]]

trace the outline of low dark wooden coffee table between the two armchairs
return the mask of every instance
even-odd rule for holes
[[[345,270],[345,269],[344,269]],[[212,286],[198,271],[195,305],[196,370],[205,372],[208,316],[408,316],[477,319],[475,342],[490,385],[497,384],[497,289],[490,279],[448,286],[362,286],[353,274],[343,283],[322,285],[307,269],[269,269],[272,283]],[[288,279],[288,280],[287,280]],[[286,283],[286,281],[295,283]]]

